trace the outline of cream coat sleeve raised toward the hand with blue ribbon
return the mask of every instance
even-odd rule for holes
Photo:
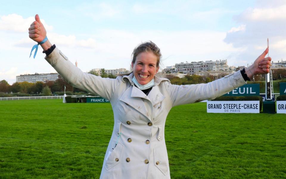
[[[45,59],[72,86],[95,93],[108,100],[111,99],[119,85],[120,78],[122,78],[121,76],[116,79],[101,78],[82,72],[57,47]]]

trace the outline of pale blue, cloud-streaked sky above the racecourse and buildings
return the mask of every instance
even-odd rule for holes
[[[272,61],[286,60],[286,0],[1,1],[0,80],[56,72],[28,28],[39,14],[47,37],[83,72],[130,70],[133,49],[153,41],[160,68],[180,62],[225,60],[251,64],[267,47]]]

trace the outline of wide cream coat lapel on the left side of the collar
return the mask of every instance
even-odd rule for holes
[[[126,104],[130,105],[134,109],[136,109],[138,112],[146,116],[150,121],[151,120],[151,114],[147,111],[145,104],[142,100],[142,98],[147,99],[150,101],[148,96],[144,94],[141,90],[139,90],[137,87],[133,87],[132,85],[125,90],[125,92],[122,94],[120,101],[125,102]]]

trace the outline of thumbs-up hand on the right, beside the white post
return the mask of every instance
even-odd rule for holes
[[[265,58],[267,53],[268,48],[266,48],[266,50],[254,61],[250,67],[245,69],[245,73],[249,78],[253,77],[251,72],[253,72],[254,75],[263,75],[270,72],[271,57]]]

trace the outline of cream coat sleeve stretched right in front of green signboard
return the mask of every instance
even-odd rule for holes
[[[234,72],[207,84],[174,85],[165,82],[172,106],[215,99],[231,90],[246,84],[240,71]]]

